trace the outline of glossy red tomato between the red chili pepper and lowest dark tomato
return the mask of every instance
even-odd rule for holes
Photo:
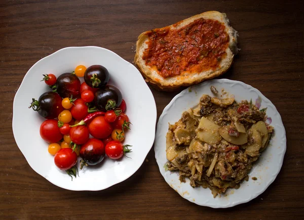
[[[112,133],[111,125],[104,119],[104,116],[97,116],[88,124],[90,134],[94,138],[106,138]]]

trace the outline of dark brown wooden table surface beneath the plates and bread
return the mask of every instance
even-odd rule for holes
[[[132,63],[141,32],[210,10],[225,12],[240,35],[241,51],[221,77],[258,89],[285,125],[283,167],[264,193],[227,209],[188,202],[164,181],[153,148],[131,178],[99,192],[61,189],[30,168],[11,122],[15,93],[36,61],[65,47],[100,46]],[[301,0],[1,1],[0,218],[303,219],[303,51]],[[151,90],[159,116],[177,93]]]

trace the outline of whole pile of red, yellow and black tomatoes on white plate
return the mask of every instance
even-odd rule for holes
[[[48,152],[55,155],[59,169],[76,177],[78,156],[82,169],[99,164],[105,155],[119,159],[131,152],[130,145],[122,144],[131,124],[124,113],[126,102],[117,87],[107,85],[105,67],[80,65],[58,78],[43,76],[52,91],[32,99],[29,108],[47,119],[40,126],[40,136],[50,144]],[[81,83],[79,77],[85,81]]]

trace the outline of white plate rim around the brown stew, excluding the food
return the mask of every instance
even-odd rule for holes
[[[164,168],[167,162],[166,134],[168,122],[173,124],[178,121],[182,112],[196,106],[203,94],[209,94],[213,97],[214,95],[210,91],[211,85],[217,88],[219,94],[221,89],[224,89],[229,94],[234,95],[237,101],[252,99],[254,104],[257,100],[257,103],[261,103],[261,108],[268,108],[267,115],[272,118],[271,125],[275,127],[275,135],[270,142],[270,146],[263,151],[258,161],[253,165],[249,173],[249,181],[244,181],[239,189],[227,190],[225,195],[216,198],[213,198],[209,189],[192,188],[189,185],[189,180],[186,180],[186,183],[180,183],[177,172],[165,171]],[[240,81],[214,79],[192,86],[190,90],[186,89],[172,99],[158,121],[154,149],[157,163],[165,181],[183,198],[198,205],[227,208],[254,199],[276,179],[286,151],[286,134],[276,107],[258,90]],[[257,180],[253,181],[251,177],[256,177]]]

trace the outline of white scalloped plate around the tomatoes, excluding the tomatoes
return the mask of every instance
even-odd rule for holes
[[[54,164],[48,153],[48,144],[39,134],[44,118],[28,109],[32,98],[38,99],[49,91],[40,81],[45,73],[57,77],[71,72],[78,65],[89,67],[100,64],[110,73],[109,84],[117,86],[127,103],[131,130],[125,144],[132,145],[132,152],[121,160],[105,158],[97,166],[84,167],[79,177],[71,178]],[[82,80],[83,81],[83,80]],[[149,117],[147,117],[147,115]],[[35,63],[26,73],[16,93],[13,106],[13,132],[16,143],[29,165],[51,183],[69,190],[102,190],[129,178],[142,164],[155,138],[156,104],[154,97],[139,71],[117,54],[99,47],[64,48]]]

